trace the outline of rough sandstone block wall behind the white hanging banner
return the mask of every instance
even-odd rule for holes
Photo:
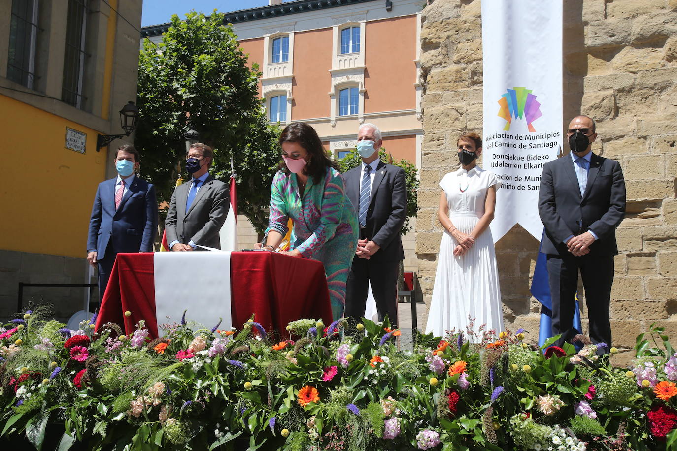
[[[577,114],[594,118],[593,151],[621,162],[626,177],[611,300],[614,345],[625,350],[617,361],[624,362],[635,336],[653,322],[677,337],[677,0],[567,0],[563,27],[563,128]],[[458,167],[459,133],[482,129],[480,1],[429,0],[420,60],[416,253],[429,304],[443,232],[437,183]],[[524,327],[532,340],[540,312],[529,294],[537,252],[538,240],[519,225],[496,244],[506,326]],[[584,308],[587,330],[586,315]]]

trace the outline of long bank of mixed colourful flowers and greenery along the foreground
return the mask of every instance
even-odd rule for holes
[[[0,328],[0,437],[67,450],[677,449],[677,353],[663,329],[632,369],[605,343],[524,331],[418,335],[314,319],[282,334],[185,321],[77,331],[30,310]],[[609,350],[617,352],[615,348]]]

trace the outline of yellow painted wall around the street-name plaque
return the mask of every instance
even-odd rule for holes
[[[106,176],[97,131],[0,94],[0,249],[86,256],[89,215]],[[87,150],[66,149],[66,127],[87,133]]]

